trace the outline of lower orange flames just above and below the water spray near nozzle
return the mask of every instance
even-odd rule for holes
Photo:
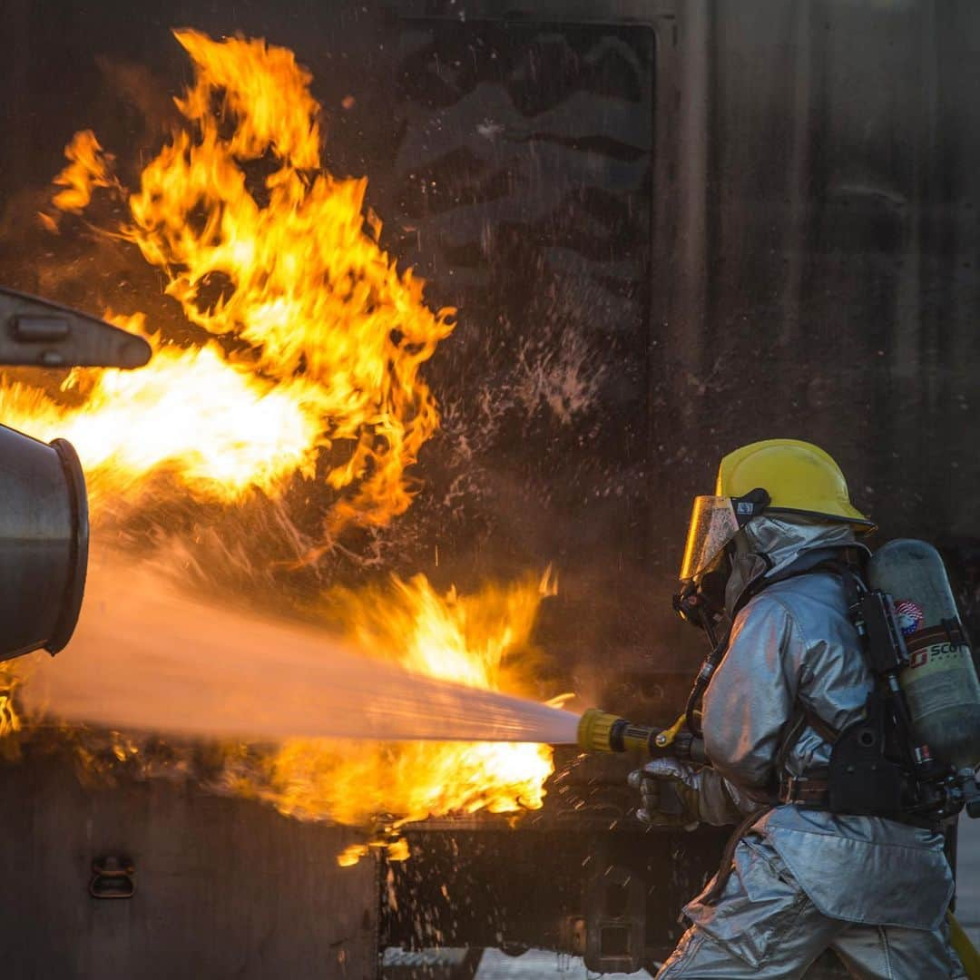
[[[472,596],[437,593],[424,575],[392,580],[386,590],[335,593],[331,607],[360,649],[434,677],[513,694],[530,693],[531,630],[550,576]],[[520,655],[519,670],[515,656]],[[386,745],[296,740],[263,760],[261,772],[227,770],[236,792],[270,801],[283,813],[369,824],[379,814],[382,841],[406,822],[452,812],[540,809],[551,775],[552,749],[524,743]],[[349,849],[342,863],[366,854]],[[404,848],[394,856],[407,857]],[[393,854],[389,852],[389,857]]]

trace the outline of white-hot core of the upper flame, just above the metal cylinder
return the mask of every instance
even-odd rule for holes
[[[110,319],[142,332],[141,316]],[[77,407],[0,382],[4,423],[48,441],[69,439],[96,509],[138,491],[161,466],[198,496],[225,502],[252,487],[275,494],[294,472],[313,476],[321,445],[316,385],[256,377],[229,365],[214,342],[182,349],[149,339],[152,369],[73,370],[62,390],[84,399]]]

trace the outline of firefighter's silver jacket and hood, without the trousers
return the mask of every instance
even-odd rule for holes
[[[753,554],[733,570],[730,608],[760,576],[777,580],[736,615],[703,715],[711,764],[743,810],[777,781],[776,759],[799,706],[840,730],[858,718],[871,688],[839,577],[817,571],[778,580],[802,556],[854,547],[851,529],[762,516],[746,534]],[[830,745],[808,726],[785,769],[803,776],[829,759]],[[716,785],[705,789],[703,810],[719,798]],[[752,832],[772,845],[813,905],[833,918],[934,929],[953,894],[943,838],[928,830],[789,805],[763,813]]]

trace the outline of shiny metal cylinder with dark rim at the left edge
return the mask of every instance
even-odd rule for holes
[[[71,443],[0,425],[0,661],[71,639],[88,564],[88,502]]]

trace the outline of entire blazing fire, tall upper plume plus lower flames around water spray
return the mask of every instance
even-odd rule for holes
[[[147,368],[75,369],[55,395],[7,378],[0,417],[73,442],[97,520],[119,500],[148,506],[141,491],[161,470],[178,492],[227,507],[325,472],[324,540],[350,522],[384,525],[410,506],[407,470],[438,426],[419,368],[450,333],[452,311],[432,313],[422,283],[379,247],[366,181],[322,169],[319,105],[291,51],[175,36],[195,73],[175,100],[183,127],[134,193],[94,133],[76,134],[46,223],[64,227],[64,215],[98,195],[118,196],[126,221],[102,233],[135,245],[212,339],[181,346],[147,330],[141,314],[117,319],[150,338]],[[333,593],[327,605],[371,656],[527,694],[509,658],[526,649],[546,591],[524,581],[441,596],[417,576]],[[20,725],[8,681],[0,734]],[[551,750],[538,745],[295,742],[229,750],[222,786],[289,814],[390,832],[430,814],[540,807],[551,770]],[[405,856],[388,843],[392,857]]]

